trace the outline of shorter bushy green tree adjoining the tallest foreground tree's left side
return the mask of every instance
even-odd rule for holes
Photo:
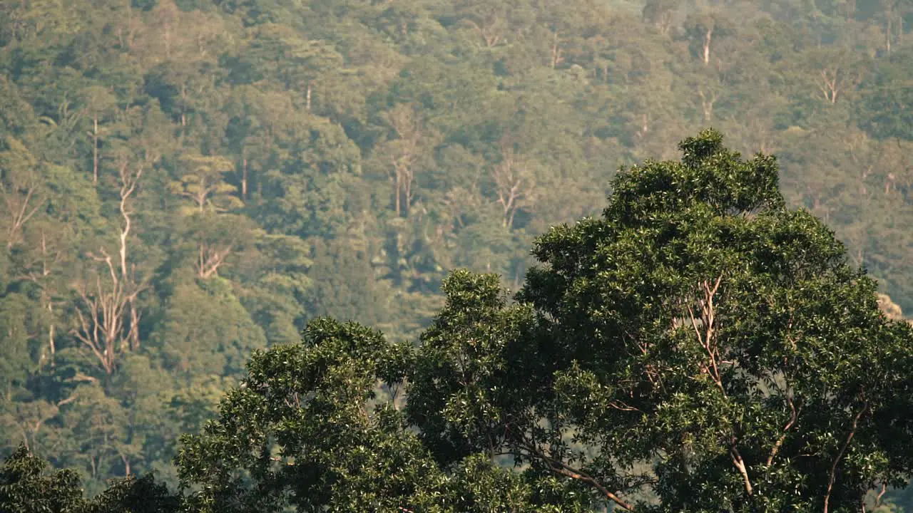
[[[407,346],[317,319],[299,344],[257,352],[204,432],[184,439],[192,511],[584,511],[545,479],[471,457],[447,476],[377,382],[401,382]],[[395,392],[394,392],[395,395]],[[249,476],[247,478],[246,476]]]

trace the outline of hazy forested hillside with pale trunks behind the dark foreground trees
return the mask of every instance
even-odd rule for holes
[[[22,446],[102,501],[114,477],[215,479],[181,475],[181,439],[248,361],[323,318],[434,338],[446,285],[472,281],[454,269],[498,277],[474,278],[489,295],[546,287],[543,234],[707,127],[775,155],[783,208],[833,230],[900,319],[911,22],[909,0],[0,2],[0,457]],[[894,473],[879,511],[913,511],[873,457]],[[482,463],[479,482],[514,478]]]

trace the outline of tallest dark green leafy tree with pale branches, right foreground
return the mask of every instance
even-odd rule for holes
[[[908,325],[773,158],[715,131],[540,237],[517,306],[459,277],[409,373],[433,454],[509,454],[616,508],[856,510],[908,476]],[[501,327],[501,328],[498,328]],[[641,496],[643,497],[643,496]]]

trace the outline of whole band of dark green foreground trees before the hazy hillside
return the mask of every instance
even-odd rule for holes
[[[8,510],[890,510],[913,473],[913,327],[772,157],[716,131],[619,173],[599,219],[537,239],[509,302],[459,270],[416,346],[308,323],[255,351],[175,460],[90,500],[20,447]],[[872,503],[875,504],[872,504]],[[3,506],[0,506],[2,508]]]

